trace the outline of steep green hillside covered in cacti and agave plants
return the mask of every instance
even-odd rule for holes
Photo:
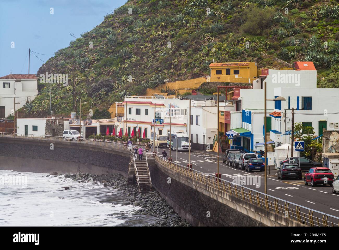
[[[338,54],[338,1],[131,0],[41,66],[37,76],[68,74],[68,86],[39,83],[30,115],[48,114],[50,88],[56,114],[78,110],[80,97],[84,110],[105,108],[166,79],[209,75],[213,59],[313,61],[318,84],[339,87]]]

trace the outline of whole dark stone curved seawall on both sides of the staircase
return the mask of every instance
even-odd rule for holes
[[[53,143],[53,149],[51,144]],[[120,173],[130,153],[90,143],[0,137],[0,169],[51,173]],[[188,176],[149,162],[153,187],[193,226],[302,226]]]

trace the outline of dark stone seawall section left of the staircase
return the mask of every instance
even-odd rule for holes
[[[0,169],[26,172],[120,173],[127,176],[129,154],[105,147],[0,137]]]

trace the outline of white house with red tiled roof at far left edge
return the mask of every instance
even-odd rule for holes
[[[0,118],[6,118],[26,101],[38,95],[38,78],[33,74],[9,74],[0,77]]]

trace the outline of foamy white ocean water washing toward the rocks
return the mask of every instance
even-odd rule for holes
[[[119,191],[46,175],[0,170],[0,226],[117,226],[126,220],[112,213],[138,209],[100,202]]]

